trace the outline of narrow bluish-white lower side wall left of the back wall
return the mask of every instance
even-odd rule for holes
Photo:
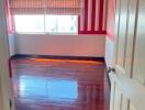
[[[14,35],[8,35],[10,56],[15,55]]]

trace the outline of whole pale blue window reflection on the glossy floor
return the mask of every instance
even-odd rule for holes
[[[63,99],[72,101],[78,98],[78,84],[76,80],[29,75],[20,76],[19,80],[19,95],[21,97],[45,97],[53,101]]]

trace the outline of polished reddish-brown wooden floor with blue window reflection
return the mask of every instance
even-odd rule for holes
[[[16,110],[108,110],[101,62],[19,58],[12,70]]]

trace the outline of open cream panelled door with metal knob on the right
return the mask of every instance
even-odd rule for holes
[[[110,110],[145,110],[145,0],[116,0]]]

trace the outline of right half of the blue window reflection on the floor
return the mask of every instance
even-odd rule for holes
[[[51,79],[47,84],[48,97],[51,99],[71,99],[78,98],[78,84],[74,80]]]

